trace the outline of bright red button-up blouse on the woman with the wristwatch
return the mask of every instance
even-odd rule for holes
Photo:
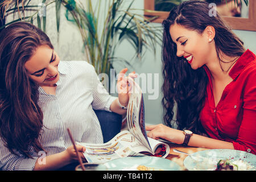
[[[247,51],[229,72],[233,78],[215,107],[212,80],[209,83],[201,123],[209,137],[232,142],[236,150],[256,154],[256,59]]]

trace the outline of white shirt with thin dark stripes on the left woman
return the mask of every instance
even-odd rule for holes
[[[102,143],[100,123],[93,109],[108,110],[116,99],[104,89],[94,67],[85,61],[60,61],[60,79],[56,96],[39,87],[39,101],[44,118],[40,142],[46,155],[57,154],[72,145],[67,128],[76,142]],[[11,154],[0,139],[0,167],[3,170],[32,170],[41,154],[34,159]]]

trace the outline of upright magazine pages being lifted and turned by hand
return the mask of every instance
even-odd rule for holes
[[[148,142],[147,133],[144,122],[144,101],[143,94],[139,85],[133,81],[131,90],[129,91],[130,99],[127,106],[127,126],[131,134],[133,134],[141,143],[152,151]]]

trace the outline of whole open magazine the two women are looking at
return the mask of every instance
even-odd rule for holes
[[[133,81],[127,106],[128,130],[121,131],[103,144],[77,143],[86,147],[84,156],[88,163],[106,163],[126,156],[151,155],[166,158],[168,144],[148,138],[144,122],[144,102],[141,88]]]

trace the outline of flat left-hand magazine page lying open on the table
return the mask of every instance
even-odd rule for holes
[[[106,163],[109,160],[138,156],[141,151],[151,152],[129,131],[122,131],[107,143],[79,143],[86,148],[84,156],[88,163]]]

